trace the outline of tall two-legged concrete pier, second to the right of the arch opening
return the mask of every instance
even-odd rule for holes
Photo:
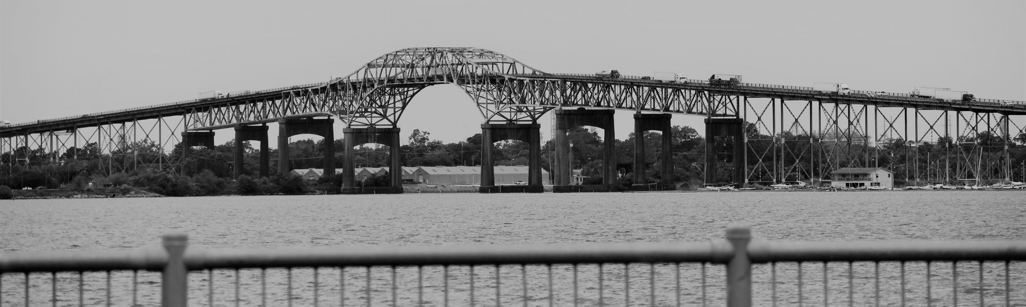
[[[613,121],[613,114],[615,112],[613,109],[585,109],[583,107],[577,109],[556,109],[554,112],[556,113],[556,122],[554,123],[556,126],[556,168],[555,174],[553,174],[555,182],[552,191],[570,192],[581,190],[581,188],[575,188],[569,185],[569,140],[566,138],[568,131],[581,126],[592,126],[601,128],[604,131],[602,139],[602,171],[600,172],[604,187],[601,187],[601,190],[608,191],[615,189],[617,185],[617,139]],[[596,190],[596,188],[591,188],[591,190]]]

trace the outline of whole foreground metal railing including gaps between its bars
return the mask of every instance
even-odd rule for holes
[[[261,250],[170,233],[0,254],[0,306],[1011,307],[1026,306],[1024,260],[1026,240],[784,243],[743,225],[705,243]]]

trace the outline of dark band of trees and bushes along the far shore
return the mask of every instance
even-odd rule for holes
[[[660,182],[664,174],[661,173],[662,164],[673,163],[674,173],[672,182],[676,183],[677,190],[698,190],[713,189],[704,187],[705,183],[705,149],[706,140],[695,129],[687,126],[673,126],[673,143],[671,159],[663,160],[664,157],[657,155],[662,150],[662,137],[659,133],[645,132],[642,135],[629,135],[627,140],[615,140],[615,160],[621,163],[633,161],[635,152],[635,138],[644,139],[644,161],[652,162],[646,166],[641,176],[649,183]],[[754,126],[746,126],[746,133],[750,139],[766,139]],[[415,129],[407,138],[408,142],[400,146],[400,164],[405,166],[479,166],[481,156],[481,134],[474,134],[466,141],[456,143],[443,143],[440,140],[433,140],[427,131]],[[794,135],[784,135],[785,138],[805,139]],[[984,137],[988,135],[980,135]],[[570,149],[570,166],[575,174],[580,172],[583,177],[582,182],[586,185],[602,184],[602,149],[603,141],[595,132],[584,127],[567,132],[567,138],[574,144]],[[328,152],[328,147],[324,139],[314,141],[310,139],[290,142],[288,169],[306,170],[322,167],[325,158],[333,159],[336,165],[343,165],[342,148],[353,145],[356,149],[354,161],[356,167],[385,167],[391,162],[388,146],[377,146],[367,144],[346,144],[344,139],[334,140],[332,148],[334,152]],[[950,142],[945,139],[944,142]],[[711,143],[715,146],[716,152],[728,152],[732,150],[732,142],[717,139]],[[1026,159],[1026,134],[1016,138],[1014,146],[1009,148],[1012,154],[1010,161],[1012,165],[1020,164]],[[260,169],[260,157],[267,155],[270,159],[271,170],[279,169],[278,150],[270,149],[269,152],[261,152],[253,148],[249,142],[242,142],[243,149],[241,170],[242,176],[232,179],[235,173],[234,152],[235,141],[230,140],[224,144],[207,147],[183,148],[181,144],[175,145],[171,151],[166,151],[157,144],[149,142],[133,142],[125,144],[129,151],[104,151],[97,143],[88,143],[81,148],[68,148],[66,152],[45,152],[39,148],[18,147],[11,152],[0,154],[0,163],[5,167],[0,168],[0,186],[6,185],[6,190],[0,188],[0,200],[3,199],[37,199],[37,198],[118,198],[118,196],[212,196],[212,195],[278,195],[278,194],[336,194],[341,192],[341,176],[321,177],[316,180],[305,180],[291,174],[272,174],[268,177],[260,177],[253,174]],[[494,144],[492,157],[495,165],[526,165],[528,163],[528,144],[522,141],[503,140]],[[756,141],[749,144],[757,152],[765,152],[768,144]],[[899,176],[908,175],[909,168],[915,167],[918,170],[925,170],[925,178],[919,178],[914,182],[932,182],[938,185],[937,180],[932,178],[944,174],[940,165],[929,164],[928,161],[909,160],[909,149],[921,151],[917,154],[933,155],[933,160],[939,161],[944,155],[941,150],[944,146],[939,144],[923,144],[913,148],[901,139],[893,139],[883,144],[879,156],[880,165],[887,165],[886,169],[895,171],[895,187],[904,187],[913,181]],[[760,149],[761,148],[761,149]],[[757,150],[756,150],[757,149]],[[120,149],[119,149],[120,150]],[[188,158],[184,160],[179,156],[188,150]],[[543,169],[552,171],[551,164],[554,161],[554,143],[550,140],[542,144],[542,159],[540,161]],[[168,154],[172,152],[172,154]],[[130,155],[129,155],[130,154]],[[331,155],[333,154],[333,155]],[[994,152],[985,152],[990,155]],[[19,157],[30,157],[21,159]],[[929,156],[928,156],[929,157]],[[15,160],[18,158],[18,160]],[[729,182],[728,175],[732,174],[734,162],[724,158],[716,165],[717,178],[715,182]],[[918,159],[918,158],[916,158]],[[946,158],[944,158],[946,159]],[[884,161],[885,160],[885,161]],[[22,162],[15,162],[22,161]],[[750,161],[755,161],[753,160]],[[911,161],[911,162],[910,162]],[[150,163],[146,163],[150,162]],[[157,162],[154,164],[153,162]],[[792,162],[782,162],[792,164]],[[797,162],[794,162],[797,163]],[[804,162],[801,162],[804,163]],[[838,162],[841,165],[847,162]],[[755,166],[749,163],[749,168]],[[802,165],[800,169],[812,169],[812,165]],[[172,170],[173,169],[173,170]],[[1021,178],[1020,174],[1013,172],[1007,177]],[[616,184],[621,189],[629,188],[634,182],[634,170],[626,167],[619,170],[623,174]],[[822,175],[822,174],[821,174]],[[923,175],[923,174],[920,174]],[[982,174],[994,177],[994,174]],[[356,186],[381,187],[388,186],[388,174],[380,174],[357,180]],[[577,175],[576,175],[577,176]],[[806,174],[805,177],[808,175]],[[791,173],[785,178],[774,178],[766,172],[751,174],[748,178],[753,182],[791,182],[801,179],[797,173]],[[781,181],[786,179],[784,181]],[[828,179],[828,178],[823,178]],[[1022,179],[1020,179],[1022,180]],[[994,180],[985,180],[979,184],[995,184]],[[641,182],[643,183],[643,182]],[[1002,183],[1002,182],[998,182]],[[722,184],[722,183],[721,183]],[[717,184],[717,185],[721,185]],[[814,184],[816,184],[814,182]],[[947,184],[953,184],[947,182]],[[818,185],[818,184],[817,184]],[[719,186],[716,189],[724,189]],[[26,189],[23,189],[26,188]],[[773,188],[773,185],[760,183],[749,184],[746,189],[762,190]],[[477,192],[478,186],[432,186],[432,185],[411,185],[403,186],[404,192],[425,193],[425,192]],[[713,189],[713,190],[716,190]],[[551,187],[547,188],[547,191]]]

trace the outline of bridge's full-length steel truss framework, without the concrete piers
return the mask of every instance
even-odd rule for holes
[[[894,150],[881,148],[895,140],[910,144],[902,146],[909,151],[906,160],[928,161],[925,168],[904,163],[910,166],[892,169],[909,182],[1007,180],[1015,175],[1010,139],[1026,128],[1021,106],[996,102],[977,103],[969,112],[966,105],[900,94],[838,97],[798,87],[549,74],[480,48],[407,48],[326,83],[83,116],[94,121],[55,126],[58,130],[0,129],[0,152],[10,152],[6,164],[53,163],[67,159],[61,157],[69,150],[78,159],[77,152],[94,143],[109,173],[141,167],[173,171],[182,161],[169,155],[170,148],[182,131],[310,117],[338,117],[349,128],[396,127],[412,97],[438,84],[459,86],[486,123],[536,123],[558,107],[743,118],[758,131],[746,133],[748,182],[822,180],[842,167],[893,168],[896,161],[881,155]],[[934,159],[922,148],[928,143],[944,146],[947,154]],[[27,149],[15,150],[22,147]],[[889,164],[881,165],[883,160]]]

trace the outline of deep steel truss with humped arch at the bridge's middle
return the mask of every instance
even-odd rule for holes
[[[545,73],[480,48],[406,48],[324,85],[283,92],[291,108],[278,116],[327,113],[347,127],[394,127],[413,95],[436,84],[459,86],[489,123],[536,122],[560,106],[732,116],[739,105],[729,96],[592,77]]]

